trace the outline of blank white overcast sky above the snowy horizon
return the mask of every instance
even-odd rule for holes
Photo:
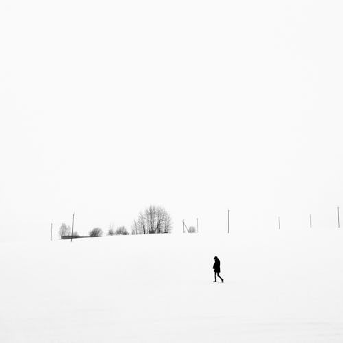
[[[342,1],[0,3],[0,239],[335,228]],[[343,213],[342,213],[343,217]]]

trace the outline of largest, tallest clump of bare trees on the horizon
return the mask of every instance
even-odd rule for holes
[[[132,235],[170,232],[171,217],[161,206],[149,206],[132,224]]]

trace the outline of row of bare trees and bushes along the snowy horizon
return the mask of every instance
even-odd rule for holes
[[[71,237],[71,227],[62,223],[58,231],[61,238]],[[139,213],[137,220],[134,220],[131,227],[132,235],[146,235],[154,233],[171,233],[171,217],[169,213],[161,206],[150,205],[143,212]],[[125,226],[115,228],[110,224],[106,233],[108,236],[129,235]],[[100,237],[104,235],[102,228],[93,228],[88,236],[82,237]],[[73,237],[81,237],[78,232],[73,231]]]

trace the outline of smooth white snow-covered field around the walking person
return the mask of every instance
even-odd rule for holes
[[[0,342],[343,342],[342,246],[340,230],[3,243]]]

